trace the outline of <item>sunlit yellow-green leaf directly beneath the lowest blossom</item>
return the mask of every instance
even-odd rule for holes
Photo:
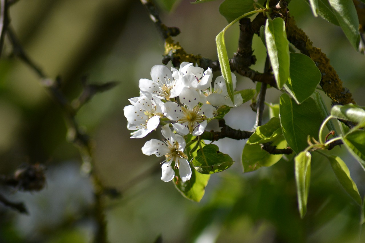
[[[192,175],[190,180],[183,182],[180,180],[178,170],[175,171],[173,178],[175,188],[187,199],[199,202],[205,193],[205,186],[207,186],[210,175],[203,175],[192,168]]]

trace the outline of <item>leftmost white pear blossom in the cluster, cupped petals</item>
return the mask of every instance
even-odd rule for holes
[[[147,95],[147,94],[146,94]],[[143,95],[129,99],[132,105],[124,107],[128,130],[131,138],[143,138],[160,124],[160,117],[164,116],[164,103],[153,95]]]

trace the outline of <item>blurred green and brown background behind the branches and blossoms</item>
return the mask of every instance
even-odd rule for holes
[[[215,36],[227,25],[218,12],[222,1],[171,2],[157,4],[162,22],[181,30],[174,39],[188,53],[217,59]],[[364,105],[364,56],[353,50],[339,27],[314,18],[304,1],[291,1],[289,9],[314,46],[330,58],[357,103]],[[85,75],[90,83],[119,82],[96,95],[77,115],[95,140],[95,167],[102,183],[122,192],[117,199],[106,198],[110,242],[154,242],[159,235],[163,242],[365,242],[365,236],[359,236],[360,208],[342,189],[328,161],[317,154],[303,220],[297,210],[290,157],[243,174],[240,159],[245,140],[215,142],[236,163],[211,176],[199,203],[188,201],[172,183],[160,180],[161,171],[152,168],[161,159],[141,152],[147,140],[159,138],[159,132],[130,139],[123,115],[128,99],[139,96],[139,79],[150,78],[151,67],[161,64],[164,51],[139,1],[20,0],[11,7],[10,16],[24,49],[47,76],[62,77],[62,90],[70,100],[81,92]],[[235,24],[226,32],[228,55],[237,49],[238,30]],[[257,36],[253,49],[258,61],[252,68],[262,72],[266,50]],[[7,40],[0,60],[0,174],[10,174],[24,162],[44,163],[47,185],[34,193],[1,188],[10,200],[24,201],[30,214],[0,205],[0,242],[89,242],[95,227],[87,214],[93,203],[92,185],[80,173],[78,150],[65,140],[61,109],[11,51]],[[254,87],[247,78],[238,77],[238,89]],[[277,103],[279,95],[270,89],[267,101]],[[324,99],[330,107],[330,100]],[[267,111],[265,116],[268,120]],[[251,130],[255,113],[246,103],[232,109],[226,122]],[[342,150],[336,148],[334,153],[343,153],[364,195],[364,170]]]

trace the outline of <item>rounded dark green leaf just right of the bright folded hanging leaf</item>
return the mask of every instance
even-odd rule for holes
[[[301,53],[290,54],[290,78],[287,85],[299,104],[312,95],[321,77],[318,67],[310,57]]]

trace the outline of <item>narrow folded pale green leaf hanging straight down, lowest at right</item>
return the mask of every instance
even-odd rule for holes
[[[309,152],[300,152],[295,158],[295,182],[297,188],[298,207],[300,217],[307,212],[307,199],[311,178],[311,158]]]

